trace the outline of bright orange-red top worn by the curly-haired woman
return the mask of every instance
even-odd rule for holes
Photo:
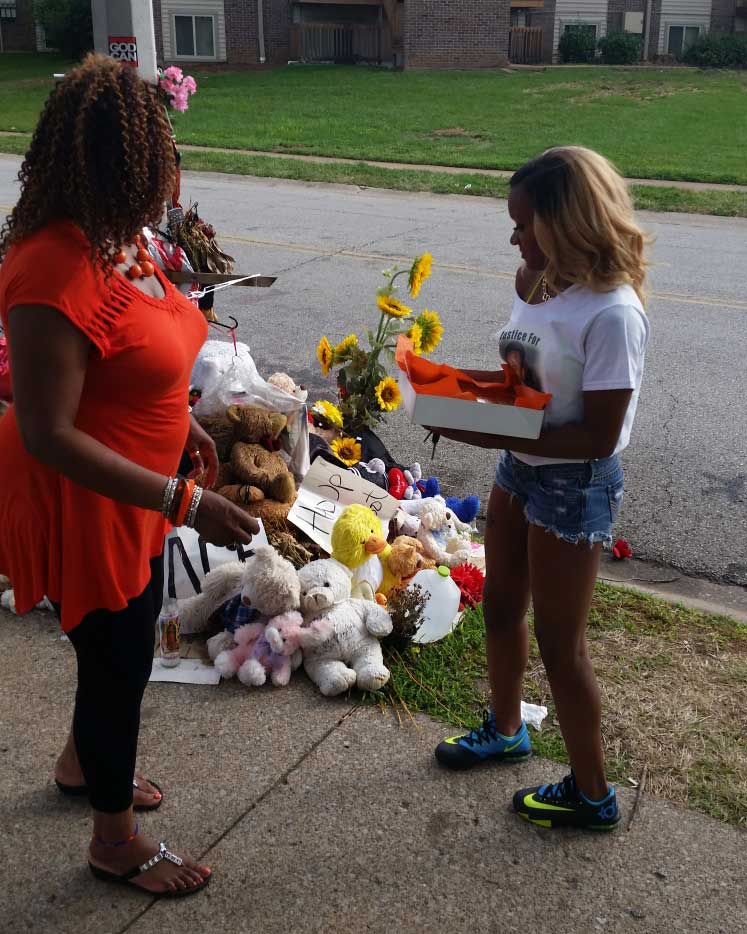
[[[163,299],[116,272],[107,281],[75,225],[49,224],[11,247],[0,266],[0,320],[7,333],[16,306],[48,305],[65,315],[92,344],[76,427],[173,475],[189,432],[189,378],[207,324],[156,274]],[[47,596],[62,605],[69,632],[92,610],[124,609],[145,590],[167,527],[160,513],[93,493],[33,458],[13,406],[0,419],[0,572],[10,577],[19,613]]]

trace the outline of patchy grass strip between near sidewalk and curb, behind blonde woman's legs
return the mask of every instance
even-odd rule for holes
[[[387,650],[387,700],[403,724],[409,710],[476,725],[488,705],[483,633],[477,610],[441,642]],[[627,783],[647,766],[652,794],[747,828],[747,625],[600,583],[589,643],[610,777]],[[567,762],[534,640],[524,699],[549,709],[530,730],[535,752]]]

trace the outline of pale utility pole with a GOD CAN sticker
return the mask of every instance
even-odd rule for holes
[[[141,78],[157,80],[152,0],[92,0],[93,43],[97,52],[137,68]]]

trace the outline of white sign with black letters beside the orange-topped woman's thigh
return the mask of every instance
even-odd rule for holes
[[[259,521],[259,520],[257,520]],[[181,526],[166,536],[163,549],[163,596],[186,600],[202,592],[206,574],[230,561],[246,561],[259,545],[268,545],[264,526],[252,537],[250,545],[220,548],[209,545],[195,529]]]

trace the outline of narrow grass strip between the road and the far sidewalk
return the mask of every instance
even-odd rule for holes
[[[25,136],[0,136],[0,152],[23,155],[29,144]],[[425,172],[417,168],[385,169],[365,163],[300,162],[281,156],[250,156],[241,152],[196,152],[182,154],[182,167],[199,172],[226,172],[260,178],[285,178],[306,182],[425,191],[441,195],[475,195],[505,198],[508,181],[476,173]],[[734,191],[689,191],[681,188],[631,186],[636,208],[687,214],[747,217],[747,193]]]

